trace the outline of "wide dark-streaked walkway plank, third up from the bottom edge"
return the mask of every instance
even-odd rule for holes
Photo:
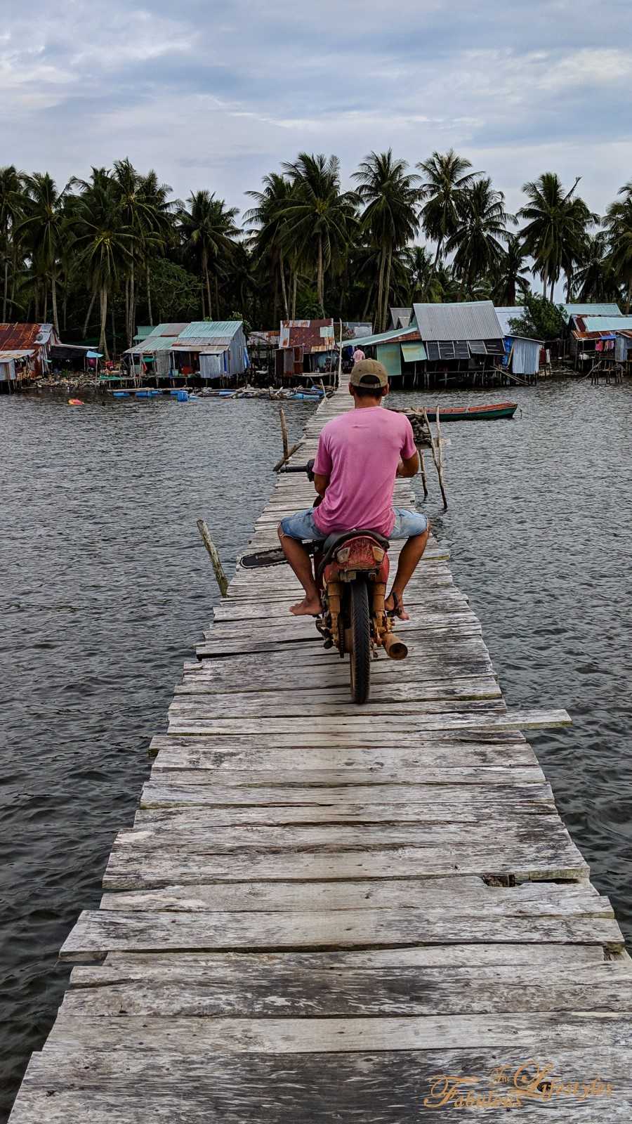
[[[607,966],[603,966],[604,972]],[[628,1012],[632,977],[572,972],[554,980],[450,978],[444,971],[414,968],[309,971],[267,969],[219,975],[175,985],[134,980],[66,992],[61,1013],[150,1018],[407,1018],[433,1015],[486,1015],[506,1012]]]

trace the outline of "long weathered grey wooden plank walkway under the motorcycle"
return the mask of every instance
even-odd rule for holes
[[[279,477],[253,549],[312,499]],[[296,596],[238,570],[186,665],[11,1124],[507,1121],[516,1086],[629,1122],[631,962],[522,733],[566,714],[507,709],[435,541],[362,708]]]

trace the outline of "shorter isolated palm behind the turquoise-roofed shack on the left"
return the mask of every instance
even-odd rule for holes
[[[235,218],[236,207],[226,207],[223,199],[216,199],[209,191],[192,191],[187,199],[188,208],[178,210],[180,236],[184,250],[198,259],[201,266],[205,289],[202,290],[202,317],[213,318],[213,300],[210,297],[209,262],[216,266],[223,257],[229,257],[235,247],[238,230]],[[207,307],[205,309],[204,292]]]

